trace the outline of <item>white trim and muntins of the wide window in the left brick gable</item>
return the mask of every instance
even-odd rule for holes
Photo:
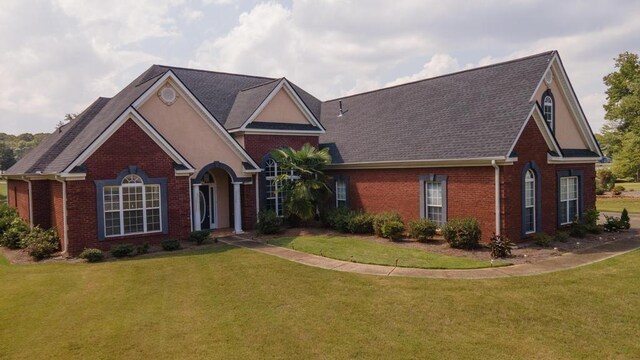
[[[137,175],[127,175],[127,177],[130,176],[137,176]],[[125,179],[127,178],[125,177]],[[142,181],[142,179],[137,176],[141,182],[139,183],[129,183],[129,184],[125,184],[124,183],[124,179],[123,179],[123,183],[118,185],[118,186],[105,186],[102,190],[102,196],[104,199],[104,192],[106,189],[113,189],[113,188],[118,188],[118,210],[117,211],[106,211],[105,210],[105,205],[106,202],[103,200],[103,205],[102,205],[102,217],[103,217],[103,221],[104,221],[104,236],[105,238],[116,238],[116,237],[123,237],[123,236],[133,236],[133,235],[143,235],[143,234],[155,234],[155,233],[161,233],[162,232],[162,189],[160,188],[160,185],[157,184],[150,184],[150,185],[145,185],[144,182]],[[141,209],[135,209],[135,210],[142,210],[142,224],[143,224],[143,229],[144,231],[140,232],[132,232],[132,233],[125,233],[124,232],[124,203],[123,203],[123,188],[131,188],[131,187],[140,187],[142,188],[142,208]],[[147,187],[157,187],[158,188],[158,207],[147,207],[147,192],[146,189]],[[153,230],[153,231],[147,231],[147,210],[155,210],[158,209],[159,211],[159,229],[158,230]],[[126,211],[131,211],[132,209],[127,209]],[[110,213],[115,213],[118,212],[120,214],[120,233],[119,234],[112,234],[112,235],[107,235],[107,217],[106,214],[107,212]]]

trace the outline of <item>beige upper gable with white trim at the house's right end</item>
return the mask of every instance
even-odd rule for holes
[[[551,78],[551,82],[547,80]],[[553,135],[562,149],[584,149],[602,156],[600,147],[567,77],[562,61],[556,53],[540,79],[531,102],[541,104],[545,92],[554,99]]]

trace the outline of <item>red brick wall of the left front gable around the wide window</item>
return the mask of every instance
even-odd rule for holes
[[[157,243],[164,238],[185,238],[191,229],[189,177],[176,177],[173,160],[132,120],[128,120],[85,162],[87,178],[67,183],[69,253],[84,248],[108,250],[114,243]],[[149,177],[167,178],[169,234],[134,235],[98,240],[94,180],[115,179],[135,165]]]

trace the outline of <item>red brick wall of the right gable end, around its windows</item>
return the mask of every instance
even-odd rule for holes
[[[557,229],[557,177],[559,170],[582,170],[584,177],[584,209],[595,207],[595,165],[594,164],[548,164],[548,147],[535,121],[529,120],[514,151],[518,161],[502,170],[502,228],[512,240],[522,239],[522,171],[528,162],[534,161],[540,169],[539,181],[541,202],[537,211],[542,212],[542,231],[553,234]]]

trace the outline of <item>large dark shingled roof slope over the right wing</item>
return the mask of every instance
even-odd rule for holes
[[[322,104],[334,164],[507,156],[555,51]],[[337,117],[339,101],[345,111]]]

